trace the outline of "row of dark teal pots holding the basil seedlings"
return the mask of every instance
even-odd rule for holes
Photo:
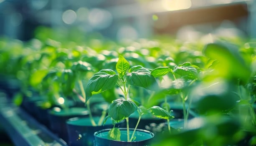
[[[32,98],[31,98],[32,99]],[[72,107],[61,109],[54,107],[43,109],[37,106],[39,98],[32,101],[24,100],[21,105],[25,111],[34,116],[40,123],[47,126],[59,138],[62,138],[69,146],[144,146],[152,141],[155,134],[166,129],[166,121],[150,116],[143,116],[135,132],[136,141],[127,142],[126,121],[116,124],[121,131],[121,141],[112,141],[107,138],[108,131],[113,128],[112,120],[109,118],[103,126],[92,126],[89,113],[85,107]],[[174,111],[173,113],[179,113]],[[99,116],[93,117],[99,121]],[[129,117],[130,127],[135,127],[138,116],[133,114]],[[172,120],[174,128],[182,126],[182,119]],[[132,130],[132,128],[130,128]],[[132,134],[132,133],[130,133]]]

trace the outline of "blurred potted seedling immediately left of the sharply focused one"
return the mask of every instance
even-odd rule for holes
[[[76,93],[76,96],[85,103],[86,94],[84,90],[84,83],[86,82],[86,74],[92,70],[91,64],[85,61],[77,61],[75,62],[71,70],[73,70],[75,74],[74,81],[77,83],[79,88],[74,88],[73,92]],[[113,95],[112,95],[113,96]],[[103,98],[103,97],[98,97]],[[99,99],[99,101],[102,101]],[[106,109],[108,104],[101,102],[96,102],[95,104],[100,104],[101,109],[96,109],[96,111],[91,111],[91,103],[87,101],[86,109],[88,110],[89,116],[84,117],[74,117],[70,118],[66,121],[66,127],[68,131],[68,144],[70,146],[93,146],[94,143],[94,135],[93,133],[99,131],[103,128],[111,128],[112,121],[109,119],[104,122],[104,118],[106,117]],[[95,106],[94,104],[94,106]],[[99,107],[98,107],[99,108]],[[100,112],[101,113],[100,113]],[[100,114],[99,114],[100,113]],[[124,121],[117,123],[117,125],[122,126]]]

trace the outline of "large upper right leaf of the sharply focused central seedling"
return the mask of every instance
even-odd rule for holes
[[[158,84],[150,70],[142,66],[134,66],[127,73],[127,82],[132,86],[144,87],[149,90],[157,90]]]

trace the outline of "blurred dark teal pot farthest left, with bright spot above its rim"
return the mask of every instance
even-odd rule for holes
[[[53,108],[48,111],[48,119],[50,122],[50,129],[53,133],[56,133],[64,141],[68,141],[68,132],[66,127],[66,121],[69,118],[88,116],[89,112],[86,108]]]

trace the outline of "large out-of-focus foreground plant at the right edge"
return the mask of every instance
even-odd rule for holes
[[[154,141],[152,146],[256,144],[256,116],[252,106],[255,95],[251,94],[255,67],[252,56],[243,58],[246,56],[243,51],[228,43],[205,45],[203,53],[208,64],[202,80],[190,94],[200,116],[188,121],[182,131],[159,135],[156,139],[161,142]]]

